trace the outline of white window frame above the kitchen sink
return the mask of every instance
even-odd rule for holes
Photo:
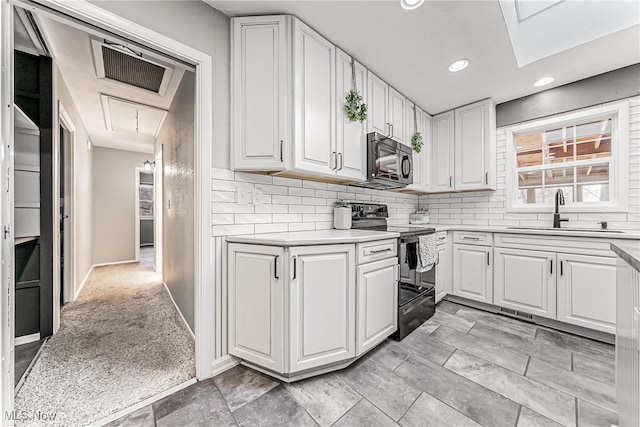
[[[579,160],[575,166],[584,163],[609,163],[609,198],[608,202],[567,202],[563,212],[626,212],[629,207],[629,101],[604,104],[572,113],[562,113],[553,117],[517,124],[505,128],[506,139],[506,211],[507,212],[540,212],[553,209],[553,203],[532,203],[519,205],[518,171],[516,166],[517,150],[515,136],[521,133],[533,133],[549,130],[553,126],[568,126],[588,120],[611,117],[611,157],[607,159]],[[573,162],[572,162],[573,164]],[[561,167],[561,166],[559,166]],[[531,168],[546,169],[544,166]]]

